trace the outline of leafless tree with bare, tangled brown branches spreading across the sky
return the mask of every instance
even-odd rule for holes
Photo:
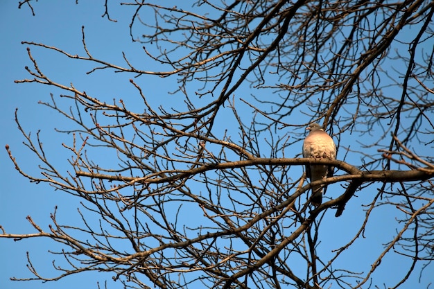
[[[43,177],[6,150],[24,177],[80,199],[81,225],[54,211],[49,229],[29,216],[36,232],[0,236],[62,244],[55,257],[67,267],[55,266],[54,280],[108,271],[128,288],[377,288],[376,270],[393,254],[410,265],[384,287],[423,274],[433,259],[434,3],[154,2],[121,6],[134,8],[132,45],[159,71],[127,53],[123,64],[94,57],[85,27],[82,53],[24,42],[33,66],[17,82],[61,91],[42,105],[71,122],[58,130],[69,169],[18,114]],[[155,18],[141,17],[150,11]],[[92,64],[89,75],[128,74],[135,95],[110,100],[56,82],[33,49]],[[154,77],[177,81],[172,102],[148,96],[141,79]],[[301,157],[312,122],[335,139],[336,161]],[[317,163],[336,171],[317,181],[329,190],[312,207],[302,166]],[[397,219],[396,234],[361,270],[340,263],[380,210]],[[360,222],[335,228],[345,239],[325,243],[330,224],[356,211]]]

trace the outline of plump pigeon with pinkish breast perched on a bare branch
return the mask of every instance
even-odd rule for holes
[[[303,143],[303,157],[315,157],[316,159],[336,159],[336,145],[333,139],[324,132],[321,125],[313,123],[306,130],[310,130]],[[311,182],[333,176],[333,166],[322,164],[306,165],[306,176]],[[322,189],[324,185],[313,186],[311,203],[319,206],[322,202]]]

